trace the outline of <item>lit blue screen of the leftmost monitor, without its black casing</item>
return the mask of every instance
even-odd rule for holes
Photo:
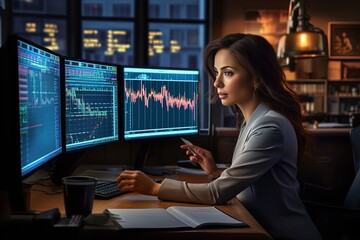
[[[17,40],[19,131],[23,176],[62,152],[60,56]]]

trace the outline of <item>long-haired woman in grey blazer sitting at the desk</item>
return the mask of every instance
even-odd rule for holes
[[[142,172],[124,171],[119,188],[202,204],[237,197],[274,239],[321,239],[299,198],[297,159],[307,135],[300,103],[272,46],[261,36],[229,34],[206,46],[204,65],[214,81],[213,96],[233,108],[240,127],[231,166],[221,171],[209,151],[182,145],[187,154],[195,151],[190,160],[214,181],[157,184]]]

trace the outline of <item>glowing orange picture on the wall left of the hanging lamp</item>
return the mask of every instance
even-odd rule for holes
[[[277,50],[281,35],[286,33],[287,21],[287,9],[247,9],[244,30],[263,36]]]

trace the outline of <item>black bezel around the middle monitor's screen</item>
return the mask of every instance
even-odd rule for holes
[[[118,99],[117,99],[117,105],[118,105],[118,113],[117,113],[117,118],[118,118],[118,138],[116,140],[112,140],[112,141],[104,141],[102,143],[97,143],[97,144],[93,144],[93,145],[83,145],[81,147],[76,147],[76,148],[67,148],[66,146],[66,77],[65,77],[65,61],[79,61],[79,62],[86,62],[86,63],[90,63],[90,64],[99,64],[99,65],[106,65],[106,66],[113,66],[116,67],[117,69],[117,88],[118,88]],[[121,99],[122,99],[122,91],[121,91],[121,77],[122,77],[122,72],[123,72],[123,67],[120,64],[116,64],[116,63],[111,63],[111,62],[104,62],[104,61],[96,61],[96,60],[89,60],[89,59],[84,59],[84,58],[76,58],[76,57],[66,57],[64,56],[62,59],[63,63],[63,78],[62,78],[62,99],[63,99],[63,126],[62,126],[62,130],[63,130],[63,151],[65,154],[70,154],[70,153],[76,153],[76,152],[84,152],[86,150],[89,149],[95,149],[95,148],[99,148],[102,146],[107,146],[107,145],[111,145],[111,144],[118,144],[120,142],[122,142],[122,123],[121,123],[121,117],[120,117],[120,106],[122,105]]]

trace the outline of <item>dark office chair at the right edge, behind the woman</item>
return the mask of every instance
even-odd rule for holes
[[[342,206],[303,200],[324,240],[360,239],[360,127],[350,132],[355,163],[355,178]]]

